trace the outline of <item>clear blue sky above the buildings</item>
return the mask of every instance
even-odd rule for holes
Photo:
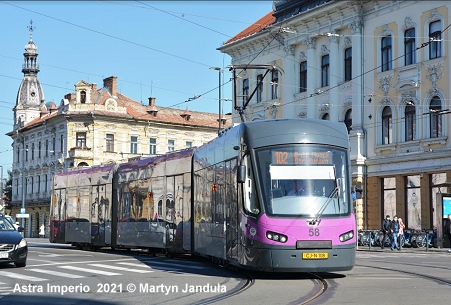
[[[59,106],[77,82],[99,88],[115,75],[118,91],[138,102],[155,97],[157,106],[218,113],[219,71],[210,67],[227,67],[231,58],[217,48],[271,10],[272,1],[0,1],[4,177],[30,25],[46,102]],[[225,69],[223,99],[232,99],[229,79]],[[232,102],[222,101],[222,110],[231,112]]]

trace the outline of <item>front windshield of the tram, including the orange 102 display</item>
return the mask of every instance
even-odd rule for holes
[[[268,215],[327,217],[350,213],[346,150],[299,144],[261,149],[257,158]]]

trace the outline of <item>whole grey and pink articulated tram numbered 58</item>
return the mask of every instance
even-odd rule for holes
[[[356,223],[348,148],[344,124],[254,121],[199,148],[103,167],[97,180],[86,178],[89,169],[60,173],[51,241],[192,253],[262,271],[350,270]],[[100,193],[108,209],[96,204]],[[71,218],[77,211],[85,217]],[[80,233],[81,222],[89,233]]]

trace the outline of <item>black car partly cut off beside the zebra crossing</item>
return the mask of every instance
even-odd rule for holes
[[[16,230],[3,215],[0,215],[0,263],[14,263],[16,267],[26,266],[28,245],[19,233],[23,231],[22,227]]]

